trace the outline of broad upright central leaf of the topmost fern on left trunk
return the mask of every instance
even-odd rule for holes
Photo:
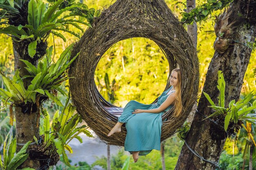
[[[37,4],[36,0],[29,0],[27,21],[34,29],[37,27]],[[34,55],[33,55],[34,56]]]

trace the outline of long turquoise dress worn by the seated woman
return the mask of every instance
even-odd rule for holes
[[[167,93],[173,88],[171,86],[158,97],[156,104],[141,104],[132,100],[126,104],[124,111],[118,118],[121,123],[126,123],[127,130],[124,142],[124,150],[140,151],[139,155],[147,155],[151,150],[160,150],[160,138],[162,128],[162,115],[170,110],[173,105],[168,106],[160,113],[137,113],[132,114],[135,109],[158,108],[168,97]],[[173,91],[174,92],[174,91]],[[172,93],[173,93],[172,92]]]

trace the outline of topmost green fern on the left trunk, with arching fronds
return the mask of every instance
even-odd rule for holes
[[[75,26],[83,33],[83,29],[77,23],[91,26],[94,15],[96,17],[100,15],[99,10],[95,12],[95,9],[89,9],[87,5],[76,3],[73,0],[51,0],[49,4],[45,4],[42,0],[29,0],[27,21],[13,25],[12,20],[20,14],[20,10],[26,2],[25,0],[0,0],[0,9],[2,9],[0,10],[0,21],[4,20],[0,22],[0,25],[6,25],[6,27],[0,28],[0,33],[11,36],[12,40],[16,42],[27,41],[29,43],[28,54],[36,59],[41,57],[40,54],[36,55],[37,44],[41,41],[45,42],[50,33],[62,38],[64,42],[66,42],[64,35],[56,31],[64,31],[80,38],[79,34],[70,31],[69,25]],[[67,11],[70,13],[60,18]],[[74,19],[75,16],[79,16],[79,20]],[[90,24],[84,22],[85,18]]]

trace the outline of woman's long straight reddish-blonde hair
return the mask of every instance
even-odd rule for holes
[[[179,117],[183,110],[182,100],[181,100],[181,71],[180,71],[180,68],[173,69],[171,73],[173,73],[173,71],[177,72],[177,79],[178,79],[177,85],[175,86],[175,102],[174,102],[173,116]]]

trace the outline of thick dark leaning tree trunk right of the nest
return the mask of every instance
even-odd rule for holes
[[[225,107],[232,99],[236,99],[236,101],[239,99],[243,77],[252,53],[252,48],[245,44],[253,43],[256,35],[255,3],[255,0],[249,2],[234,0],[229,9],[220,15],[215,26],[217,38],[214,49],[216,51],[207,71],[203,91],[209,94],[213,102],[218,103],[219,91],[216,85],[218,70],[221,70],[226,82]],[[208,106],[209,102],[206,97],[201,95],[198,113],[195,114],[186,141],[204,159],[217,162],[227,135],[223,128],[223,119],[213,118],[218,121],[220,126],[213,124],[208,119],[202,121],[205,117],[201,114],[208,116],[213,113]],[[215,168],[213,164],[201,161],[184,145],[175,170],[211,170]]]

